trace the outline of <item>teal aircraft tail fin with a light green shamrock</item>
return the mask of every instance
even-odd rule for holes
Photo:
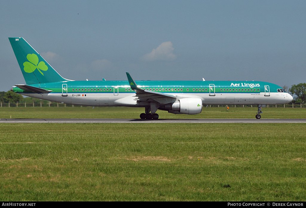
[[[27,84],[67,81],[23,38],[9,38]]]

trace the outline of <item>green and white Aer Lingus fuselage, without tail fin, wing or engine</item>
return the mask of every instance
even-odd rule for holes
[[[136,81],[140,89],[177,98],[200,98],[202,104],[286,104],[291,96],[282,87],[256,81]],[[12,90],[29,97],[84,106],[144,107],[128,81],[63,81],[32,84],[50,93],[34,93],[18,87]],[[265,90],[266,89],[266,90]],[[279,90],[279,92],[278,92]],[[100,102],[100,100],[102,102]]]

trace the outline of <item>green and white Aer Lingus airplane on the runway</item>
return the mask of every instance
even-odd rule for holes
[[[204,105],[257,105],[256,119],[267,104],[286,104],[293,97],[259,81],[74,81],[63,78],[24,40],[9,38],[26,84],[11,91],[28,97],[82,106],[143,107],[141,119],[158,119],[156,111],[199,114]]]

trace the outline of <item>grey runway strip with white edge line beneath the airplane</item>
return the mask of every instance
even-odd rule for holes
[[[306,123],[306,119],[0,119],[0,123]]]

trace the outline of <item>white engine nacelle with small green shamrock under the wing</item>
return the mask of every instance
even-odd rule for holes
[[[183,98],[174,103],[166,104],[165,109],[168,110],[169,113],[174,114],[199,114],[202,112],[202,100],[200,98]]]

